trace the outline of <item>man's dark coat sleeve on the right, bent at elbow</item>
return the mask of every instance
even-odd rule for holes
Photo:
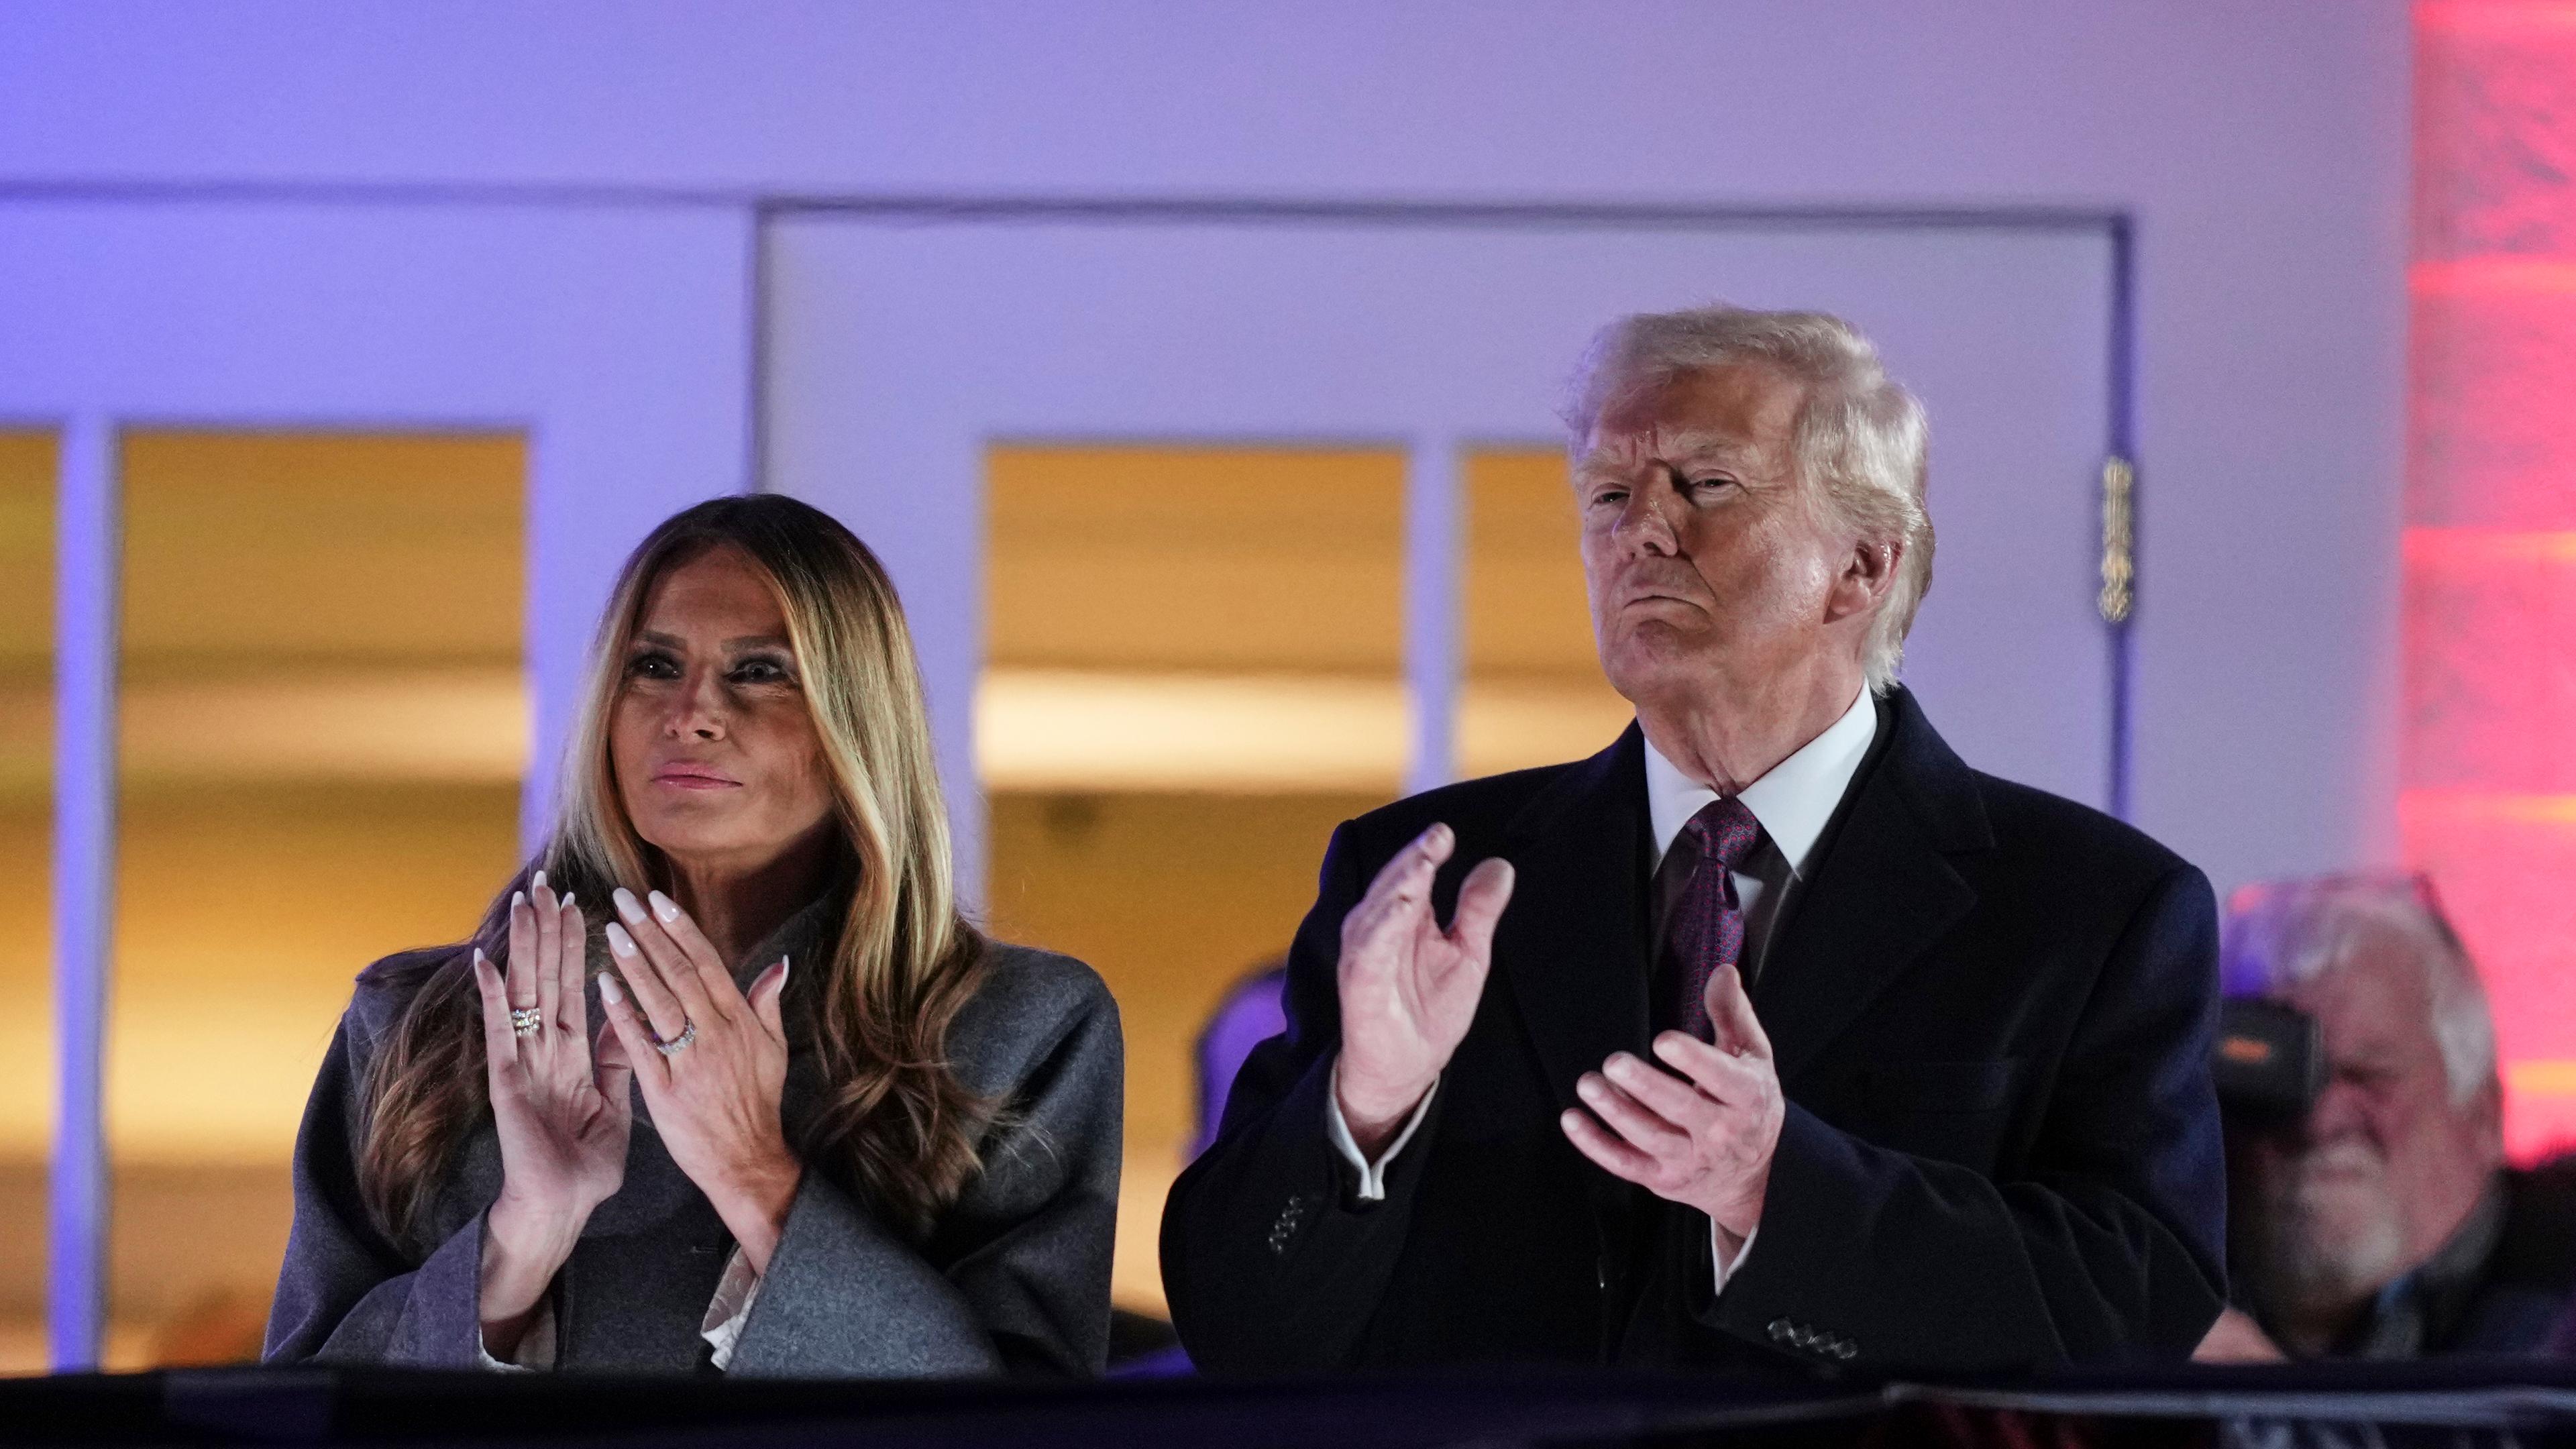
[[[1790,1104],[1762,1250],[1698,1318],[1880,1372],[2182,1361],[2226,1297],[2215,1021],[2215,902],[2174,866],[2094,982],[2027,1171],[1873,1147]]]

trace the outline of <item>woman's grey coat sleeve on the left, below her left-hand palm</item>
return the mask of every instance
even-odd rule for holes
[[[363,1013],[350,1006],[296,1129],[296,1214],[260,1359],[471,1369],[484,1361],[482,1212],[425,1258],[368,1222],[358,1199],[368,1044]]]

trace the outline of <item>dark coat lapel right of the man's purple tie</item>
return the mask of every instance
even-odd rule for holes
[[[1976,776],[1896,688],[1754,980],[1780,1080],[1816,1060],[1976,905],[1950,856],[1994,846]]]

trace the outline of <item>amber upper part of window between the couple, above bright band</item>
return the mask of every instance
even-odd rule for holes
[[[1396,676],[1404,454],[994,446],[992,668]]]

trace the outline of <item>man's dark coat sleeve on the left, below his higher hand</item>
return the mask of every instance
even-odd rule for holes
[[[1324,1127],[1340,1055],[1342,918],[1376,861],[1342,825],[1288,949],[1288,1031],[1252,1049],[1216,1142],[1162,1214],[1162,1284],[1190,1359],[1218,1374],[1345,1369],[1404,1253],[1443,1093],[1360,1201]]]

